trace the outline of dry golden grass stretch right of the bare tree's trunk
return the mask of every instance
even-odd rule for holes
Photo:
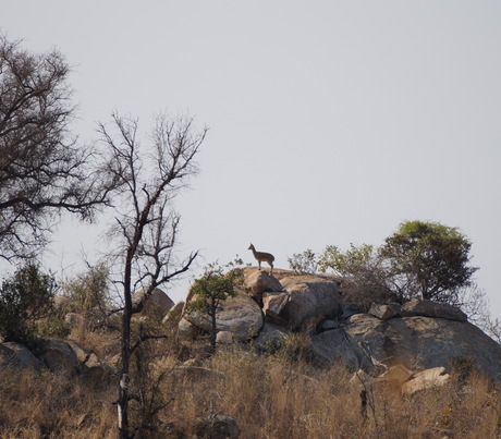
[[[179,381],[170,419],[194,432],[196,419],[233,416],[242,438],[496,438],[501,435],[501,399],[484,378],[456,380],[413,397],[349,383],[342,369],[318,370],[234,351],[219,352],[206,367],[224,378]],[[498,435],[498,436],[497,436]]]

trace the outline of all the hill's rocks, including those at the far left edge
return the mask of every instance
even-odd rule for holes
[[[151,306],[145,306],[144,314],[152,307],[166,315],[164,321],[179,321],[181,342],[210,331],[207,316],[186,313],[184,302],[174,305],[159,289],[149,302]],[[82,325],[83,319],[75,313],[66,314],[71,325]],[[411,379],[423,370],[441,368],[443,375],[454,366],[467,365],[501,381],[501,345],[469,324],[460,309],[412,301],[404,305],[372,304],[363,313],[343,302],[339,279],[329,275],[297,276],[276,269],[271,276],[246,268],[236,296],[230,297],[217,315],[217,329],[219,345],[241,343],[262,352],[280,349],[290,336],[302,333],[307,337],[315,365],[343,365],[351,373],[370,377],[396,367]],[[73,340],[47,340],[42,355],[16,343],[0,343],[0,367],[73,369],[91,381],[114,375],[119,359],[118,350],[98,358]]]

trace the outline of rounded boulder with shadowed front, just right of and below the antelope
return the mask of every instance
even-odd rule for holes
[[[281,281],[289,301],[279,317],[292,328],[307,326],[340,312],[338,283],[316,276],[293,276]]]

